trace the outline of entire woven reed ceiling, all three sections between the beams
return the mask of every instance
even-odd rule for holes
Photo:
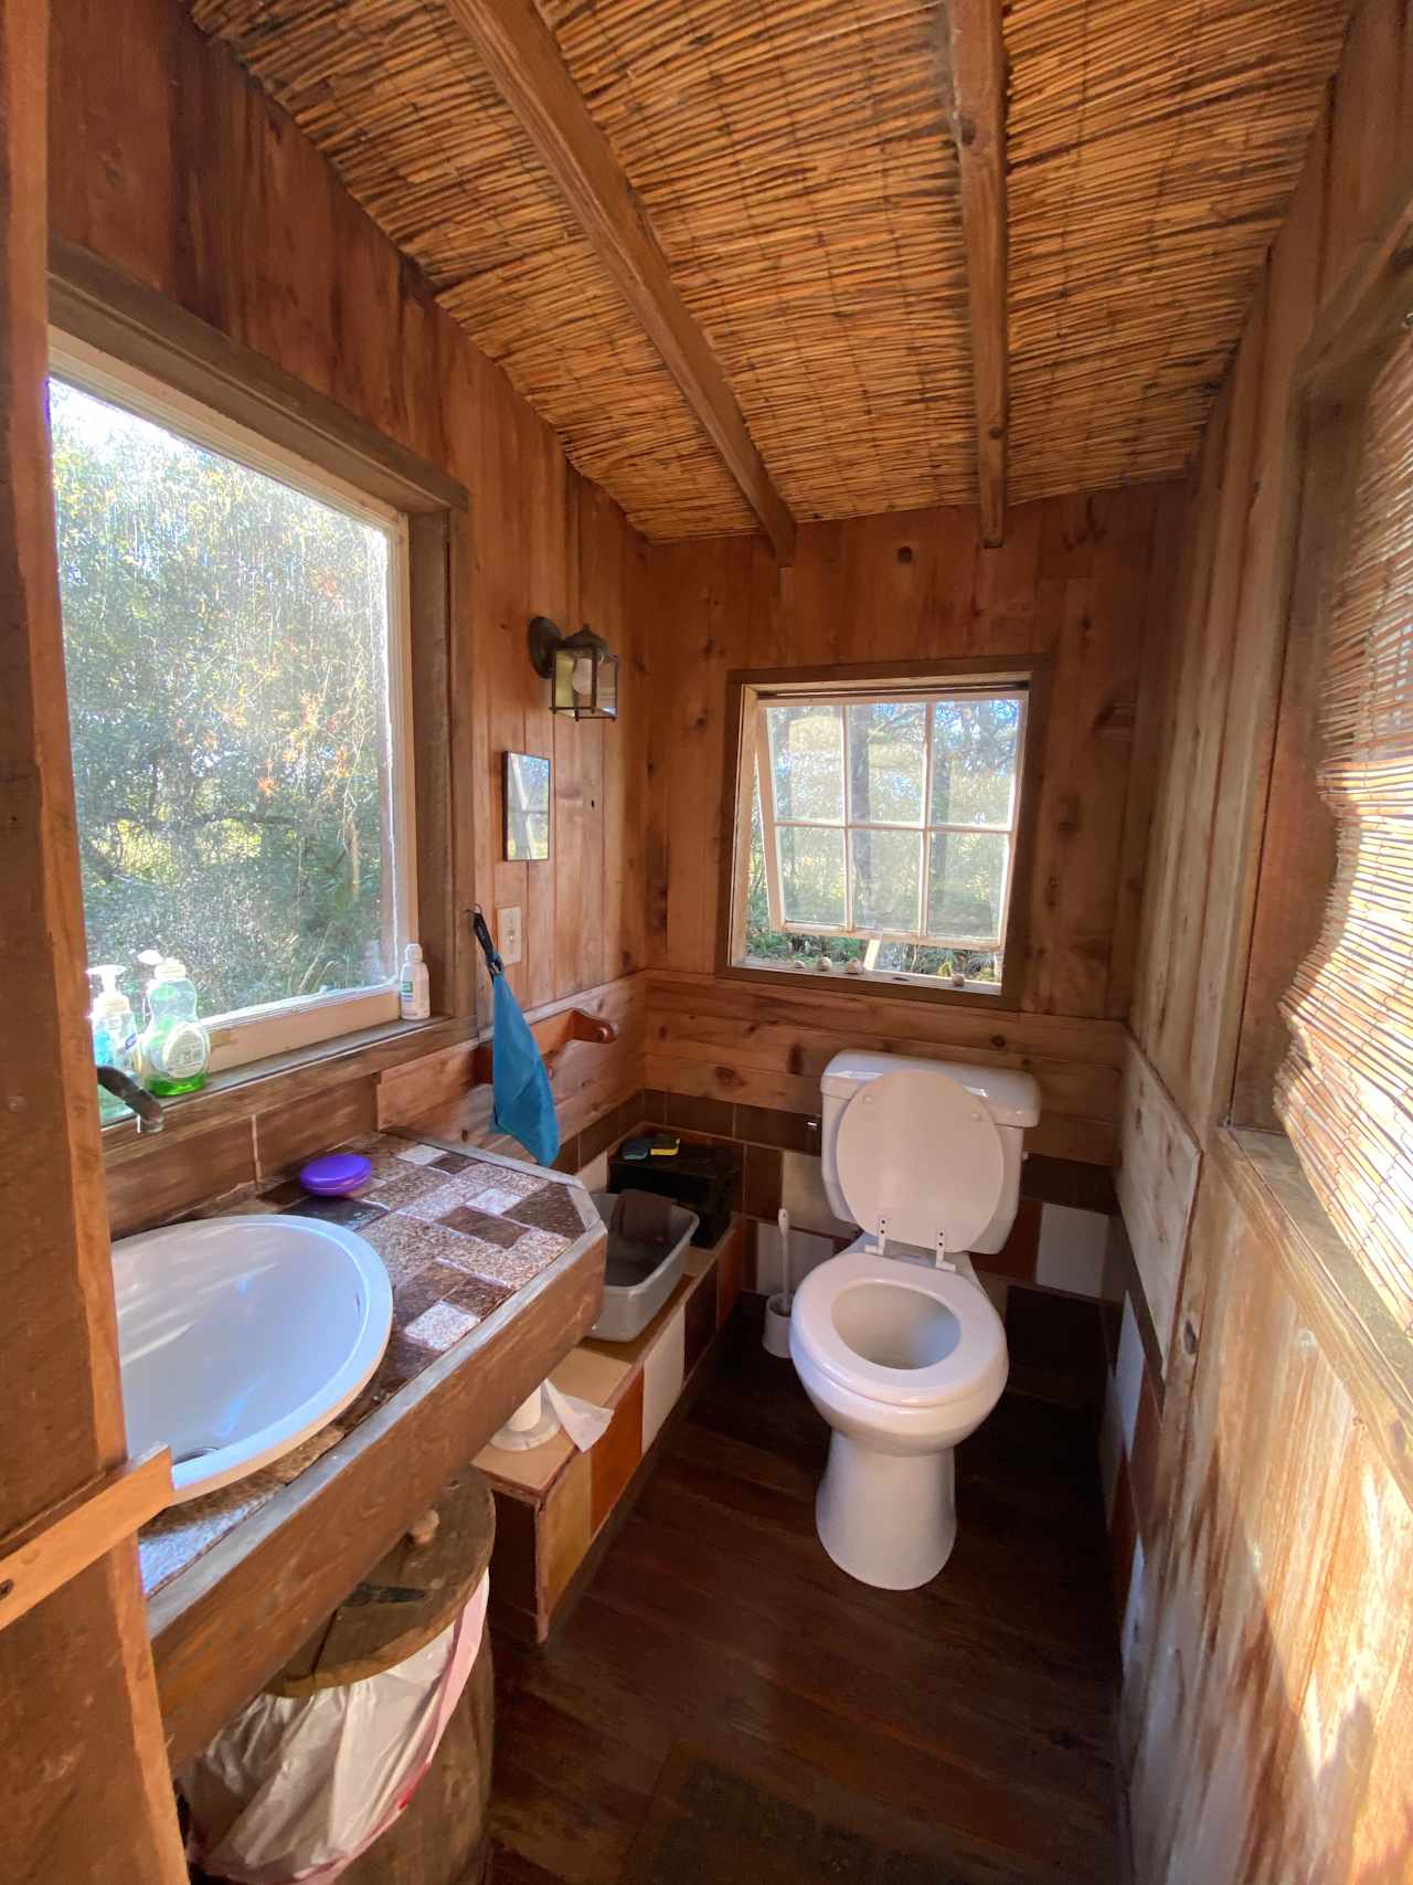
[[[188,0],[648,537],[755,528],[443,0]],[[1012,501],[1191,458],[1345,0],[1004,15]],[[976,500],[942,0],[541,0],[799,520]]]

